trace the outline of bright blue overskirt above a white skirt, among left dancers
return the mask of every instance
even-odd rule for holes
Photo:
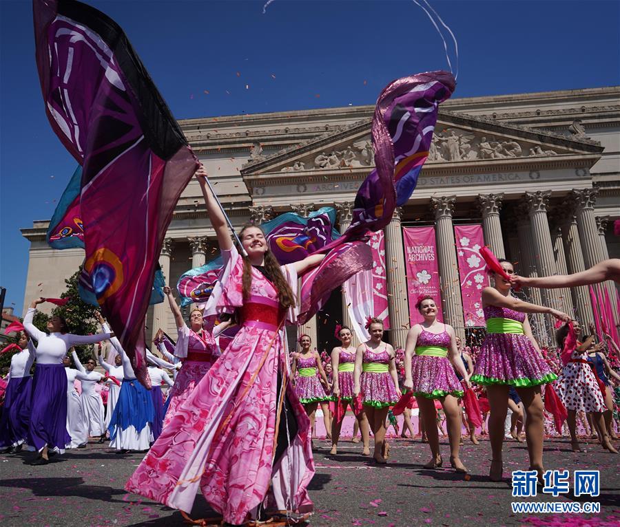
[[[134,426],[137,432],[147,424],[153,424],[154,407],[153,400],[143,385],[137,379],[123,379],[121,391],[118,393],[118,401],[114,407],[112,418],[107,429],[110,431],[110,440],[116,438],[116,429],[127,430]]]

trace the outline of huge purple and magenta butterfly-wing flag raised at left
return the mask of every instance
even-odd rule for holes
[[[33,3],[45,110],[83,169],[81,285],[96,296],[149,386],[144,321],[157,258],[198,162],[112,19],[76,1]]]

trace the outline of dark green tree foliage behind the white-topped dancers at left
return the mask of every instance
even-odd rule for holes
[[[46,332],[50,318],[54,315],[60,315],[65,319],[65,321],[67,321],[69,333],[89,335],[99,333],[101,331],[99,323],[96,321],[97,308],[95,308],[94,305],[85,303],[80,298],[78,292],[77,283],[81,270],[82,268],[80,267],[74,275],[68,279],[65,279],[67,289],[63,292],[63,294],[61,294],[61,298],[69,299],[66,305],[56,306],[56,308],[52,310],[51,316],[41,311],[37,311],[34,314],[34,325],[39,328],[39,330]],[[20,320],[23,321],[23,319]],[[9,341],[10,343],[17,343],[17,334],[11,333],[9,335]],[[76,346],[76,352],[80,358],[80,361],[85,363],[87,358],[92,357],[92,345]],[[13,354],[14,352],[3,353],[0,355],[0,371],[4,367],[10,366],[11,357]]]

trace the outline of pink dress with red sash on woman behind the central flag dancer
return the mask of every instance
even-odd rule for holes
[[[192,390],[200,382],[200,379],[216,361],[218,345],[211,332],[200,330],[196,333],[184,325],[178,328],[178,345],[187,343],[187,354],[183,353],[183,366],[174,379],[174,386],[168,394],[169,403],[163,420],[163,428],[172,420],[178,407],[185,402]],[[175,350],[176,352],[176,350]]]

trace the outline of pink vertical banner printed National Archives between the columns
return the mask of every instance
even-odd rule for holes
[[[413,325],[424,320],[420,312],[415,309],[420,294],[429,294],[435,299],[438,309],[437,319],[443,322],[435,227],[405,227],[402,235],[409,297],[409,323]]]

